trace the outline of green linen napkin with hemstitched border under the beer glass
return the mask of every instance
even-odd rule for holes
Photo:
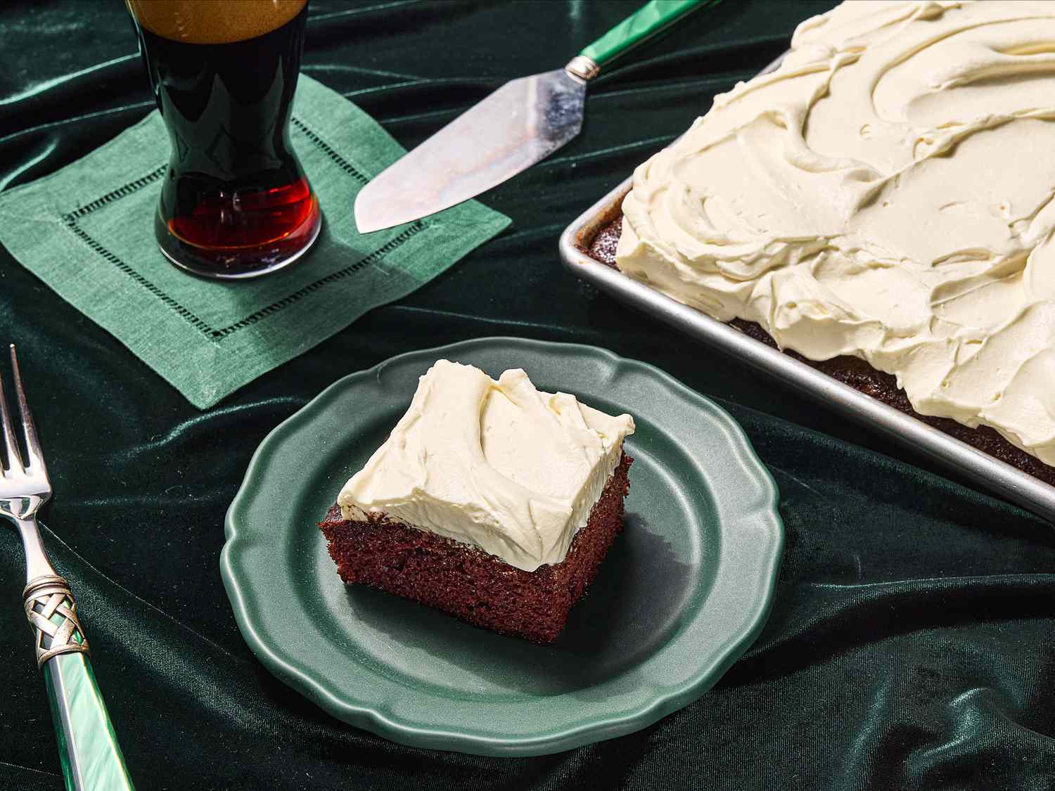
[[[475,200],[356,231],[356,194],[403,149],[340,94],[301,76],[290,128],[323,210],[314,248],[271,275],[218,283],[157,249],[169,139],[155,111],[82,159],[0,192],[0,242],[199,409],[414,291],[510,224]]]

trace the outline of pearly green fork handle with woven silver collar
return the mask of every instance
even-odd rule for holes
[[[133,791],[69,583],[57,575],[40,576],[25,586],[23,598],[68,791]]]

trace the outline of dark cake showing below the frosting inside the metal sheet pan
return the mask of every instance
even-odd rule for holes
[[[591,239],[590,245],[584,247],[584,251],[594,261],[607,264],[613,269],[615,266],[615,248],[622,233],[622,214],[602,226],[597,234]],[[742,319],[734,319],[729,322],[741,332],[750,335],[756,341],[761,341],[772,348],[778,348],[772,335],[766,332],[761,325],[755,322],[745,322]],[[913,409],[905,391],[898,387],[897,379],[883,371],[872,368],[868,363],[860,358],[838,356],[831,360],[807,360],[789,349],[784,350],[785,354],[793,356],[811,368],[837,379],[843,384],[847,384],[856,390],[860,390],[866,396],[882,401],[884,404],[893,406],[895,409],[910,414],[917,420],[921,420],[929,426],[934,426],[940,431],[944,431],[951,437],[967,443],[979,450],[989,454],[995,459],[999,459],[1013,467],[1017,467],[1023,472],[1029,472],[1044,483],[1055,485],[1055,467],[1050,467],[1035,456],[1031,456],[1019,447],[1012,445],[1000,433],[989,426],[970,428],[962,423],[957,423],[950,418],[932,418],[920,414]]]

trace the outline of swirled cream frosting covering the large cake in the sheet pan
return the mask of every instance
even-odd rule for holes
[[[1055,464],[1055,3],[845,2],[634,173],[617,266]]]

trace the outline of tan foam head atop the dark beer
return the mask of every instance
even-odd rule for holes
[[[308,0],[126,0],[151,33],[188,44],[226,44],[263,36],[301,13]]]

